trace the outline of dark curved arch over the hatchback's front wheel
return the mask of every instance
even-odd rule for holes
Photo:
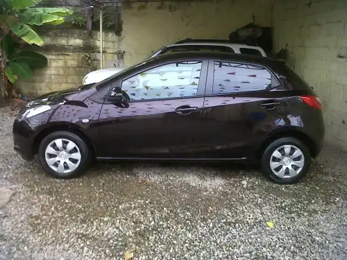
[[[46,137],[47,135],[51,134],[52,132],[58,132],[58,131],[66,131],[66,132],[72,132],[75,135],[78,135],[83,141],[85,141],[85,144],[92,152],[92,155],[95,156],[95,148],[92,144],[92,141],[90,141],[89,137],[85,135],[85,133],[81,130],[78,125],[75,125],[74,123],[59,123],[59,124],[51,124],[47,125],[44,129],[42,129],[34,138],[33,141],[33,154],[37,154],[40,142]]]

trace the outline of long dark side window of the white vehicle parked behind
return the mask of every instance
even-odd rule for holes
[[[235,53],[235,51],[227,46],[210,46],[210,45],[183,45],[183,46],[171,46],[164,49],[160,54],[164,53],[176,53],[183,51],[201,51],[201,52],[213,52],[213,53]]]

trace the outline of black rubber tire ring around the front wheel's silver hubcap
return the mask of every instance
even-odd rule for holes
[[[81,153],[81,162],[74,171],[71,171],[69,173],[58,173],[47,164],[45,157],[46,148],[47,146],[49,146],[51,141],[56,139],[67,139],[69,141],[73,141],[74,144],[78,146],[79,152]],[[90,150],[88,149],[87,144],[85,144],[85,141],[83,141],[81,137],[78,137],[78,135],[66,131],[52,132],[51,134],[44,137],[44,139],[40,143],[38,155],[40,164],[42,168],[44,168],[44,171],[46,171],[46,173],[49,173],[53,177],[60,179],[70,179],[73,177],[81,176],[83,173],[85,173],[88,166],[90,166],[90,162],[92,161]]]

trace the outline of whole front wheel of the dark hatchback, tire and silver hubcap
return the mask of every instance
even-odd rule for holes
[[[62,179],[78,177],[90,164],[85,141],[72,132],[53,132],[39,146],[40,164],[44,170]]]

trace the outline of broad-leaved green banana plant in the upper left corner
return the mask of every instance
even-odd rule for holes
[[[0,0],[0,72],[6,85],[18,77],[30,78],[30,67],[46,66],[43,55],[33,51],[15,51],[12,36],[16,35],[28,44],[42,46],[44,41],[35,31],[35,26],[58,25],[72,11],[67,8],[35,7],[42,0]],[[3,95],[3,89],[1,89]]]

